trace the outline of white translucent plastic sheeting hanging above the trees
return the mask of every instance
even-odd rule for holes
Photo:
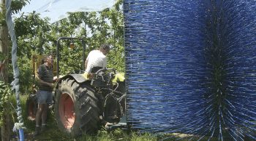
[[[67,17],[67,12],[100,11],[114,4],[115,0],[31,0],[15,17],[35,11],[41,17],[50,17],[50,23],[54,23]]]

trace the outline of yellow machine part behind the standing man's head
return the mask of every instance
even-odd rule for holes
[[[33,69],[33,74],[37,75],[37,69],[39,65],[42,65],[44,63],[43,59],[45,58],[45,55],[32,55],[32,61],[31,61],[31,66]],[[57,75],[57,63],[54,60],[53,61],[53,76]]]

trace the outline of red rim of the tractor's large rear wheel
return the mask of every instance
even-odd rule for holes
[[[74,102],[69,94],[61,94],[59,100],[59,117],[66,129],[70,129],[75,122]]]

